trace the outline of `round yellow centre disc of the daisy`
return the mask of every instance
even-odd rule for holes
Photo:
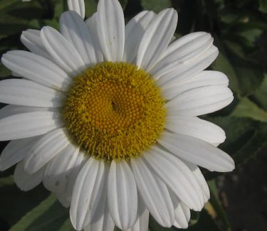
[[[164,129],[164,99],[152,76],[129,63],[100,63],[74,77],[63,119],[75,144],[96,159],[129,159]]]

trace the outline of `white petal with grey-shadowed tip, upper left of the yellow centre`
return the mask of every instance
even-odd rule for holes
[[[75,11],[67,11],[61,14],[60,24],[61,33],[78,50],[85,65],[95,64],[95,48],[83,19]]]

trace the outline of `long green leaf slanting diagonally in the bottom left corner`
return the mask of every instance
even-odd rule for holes
[[[10,231],[74,230],[68,222],[68,217],[68,209],[58,203],[56,195],[49,195],[22,217]]]

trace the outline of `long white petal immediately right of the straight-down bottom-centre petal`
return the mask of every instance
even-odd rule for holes
[[[153,176],[141,158],[131,159],[138,192],[151,215],[159,225],[171,227],[174,222],[174,208],[165,183]]]

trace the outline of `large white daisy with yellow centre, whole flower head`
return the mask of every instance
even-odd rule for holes
[[[0,168],[16,164],[21,190],[39,183],[70,206],[76,230],[186,228],[209,200],[198,166],[232,171],[216,146],[224,131],[198,116],[233,100],[226,75],[204,70],[218,55],[209,33],[172,41],[177,11],[142,11],[125,26],[117,0],[100,0],[83,20],[68,1],[60,32],[23,31],[30,51],[1,62]]]

